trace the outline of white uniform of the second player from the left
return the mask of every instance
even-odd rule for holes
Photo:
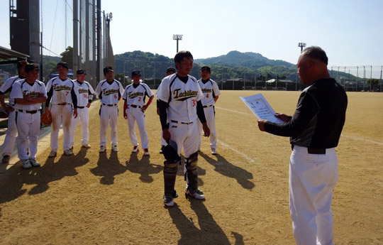
[[[11,92],[14,99],[23,99],[24,96],[38,97],[40,94],[47,97],[44,83],[38,80],[35,80],[33,84],[29,84],[26,80],[15,82]],[[20,160],[35,159],[36,157],[38,134],[40,132],[41,104],[43,103],[16,103],[17,151]],[[27,148],[29,155],[27,154]]]

